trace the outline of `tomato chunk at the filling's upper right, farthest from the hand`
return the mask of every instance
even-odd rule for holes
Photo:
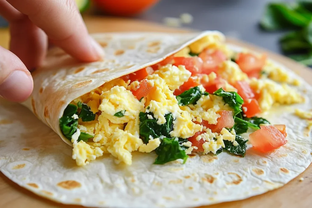
[[[248,75],[254,75],[260,73],[262,67],[266,63],[266,54],[261,57],[257,57],[251,53],[240,53],[235,61],[241,70]]]

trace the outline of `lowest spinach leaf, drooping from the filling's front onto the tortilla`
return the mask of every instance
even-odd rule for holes
[[[179,144],[179,139],[174,138],[163,138],[158,148],[155,149],[158,157],[154,164],[165,164],[170,161],[177,159],[183,159],[183,164],[188,159],[188,155],[185,153],[182,145]]]

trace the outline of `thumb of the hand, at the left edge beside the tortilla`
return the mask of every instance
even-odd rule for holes
[[[32,93],[33,80],[22,61],[0,46],[0,96],[14,102],[25,101]]]

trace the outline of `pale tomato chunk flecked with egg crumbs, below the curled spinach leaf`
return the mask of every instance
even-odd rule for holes
[[[202,120],[202,125],[210,128],[213,133],[220,133],[222,128],[232,128],[234,126],[232,111],[221,110],[218,114],[221,117],[217,119],[217,124],[209,124],[208,121]]]

